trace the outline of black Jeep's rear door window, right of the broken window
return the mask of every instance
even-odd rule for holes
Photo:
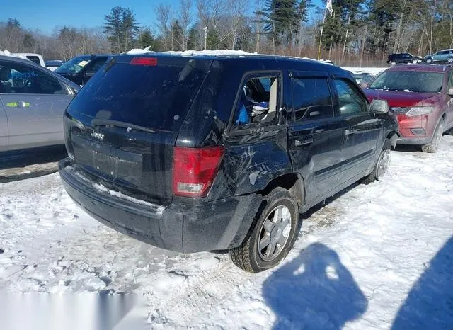
[[[295,120],[333,117],[332,97],[327,79],[292,79],[292,107]]]

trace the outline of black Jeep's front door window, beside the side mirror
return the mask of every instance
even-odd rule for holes
[[[359,115],[367,113],[367,101],[354,88],[350,81],[335,79],[335,86],[338,91],[338,101],[340,106],[340,115]]]

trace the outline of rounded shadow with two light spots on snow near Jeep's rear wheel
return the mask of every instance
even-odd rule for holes
[[[367,299],[335,251],[315,243],[263,284],[273,329],[341,329],[367,310]]]

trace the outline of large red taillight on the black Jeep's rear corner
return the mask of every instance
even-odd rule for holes
[[[223,154],[223,147],[175,147],[173,193],[187,197],[207,195],[219,171]]]

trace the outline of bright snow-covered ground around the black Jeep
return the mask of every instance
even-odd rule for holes
[[[437,154],[399,148],[383,181],[316,207],[287,259],[256,275],[98,224],[57,173],[0,183],[0,291],[136,293],[152,329],[452,329],[452,150],[452,136]]]

